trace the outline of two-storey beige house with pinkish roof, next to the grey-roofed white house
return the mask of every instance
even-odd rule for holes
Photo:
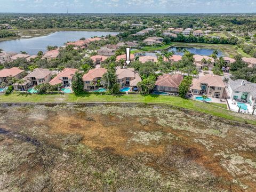
[[[190,90],[195,95],[205,94],[208,97],[223,98],[225,84],[221,76],[206,74],[194,78]]]

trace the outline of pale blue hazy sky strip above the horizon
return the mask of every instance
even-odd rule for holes
[[[252,13],[256,0],[0,0],[0,12]]]

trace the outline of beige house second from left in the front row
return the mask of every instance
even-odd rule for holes
[[[32,85],[40,85],[43,83],[49,83],[51,81],[52,72],[48,69],[35,69],[32,73],[26,76]]]

